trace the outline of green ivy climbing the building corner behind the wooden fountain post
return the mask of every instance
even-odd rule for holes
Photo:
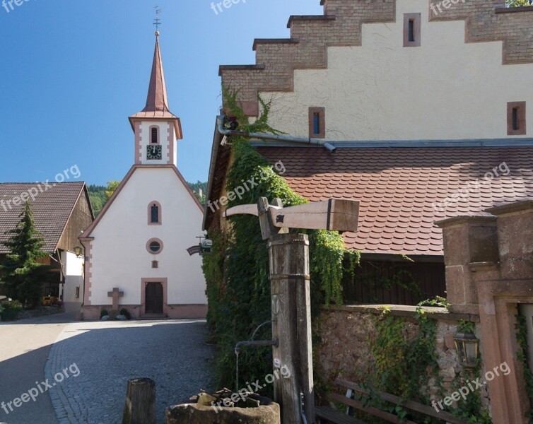
[[[247,124],[248,119],[238,106],[236,93],[224,90],[224,95],[225,106],[238,120],[241,131],[277,133],[268,124],[268,103],[259,98],[263,113],[255,122]],[[242,198],[230,199],[228,208],[238,204],[257,204],[259,197],[270,201],[279,198],[283,206],[306,202],[291,190],[283,177],[276,174],[266,158],[250,146],[247,138],[233,136],[231,143],[233,163],[226,179],[227,192],[245,187],[244,184],[252,179],[257,185],[247,185]],[[254,187],[250,187],[252,185]],[[209,234],[213,240],[212,254],[203,257],[209,300],[208,324],[218,347],[215,362],[216,384],[219,387],[235,386],[235,343],[248,340],[259,324],[271,319],[269,260],[259,221],[254,216],[240,215],[231,217],[230,223],[226,235]],[[327,302],[341,303],[345,249],[341,236],[336,232],[305,232],[310,238],[312,315],[315,317],[322,293]],[[270,327],[264,326],[255,338],[271,338]],[[239,361],[240,382],[262,380],[271,372],[271,348],[244,348]],[[271,396],[271,385],[266,387],[264,394]]]

